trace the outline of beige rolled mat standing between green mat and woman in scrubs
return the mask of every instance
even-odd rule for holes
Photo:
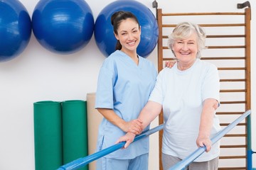
[[[88,148],[89,154],[95,153],[97,134],[102,115],[95,109],[95,93],[87,94],[87,122],[88,122]],[[89,164],[90,170],[96,169],[96,161]]]

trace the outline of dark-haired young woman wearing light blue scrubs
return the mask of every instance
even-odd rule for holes
[[[111,23],[117,46],[103,62],[97,81],[95,108],[104,117],[97,151],[114,145],[126,132],[142,132],[142,122],[135,119],[148,101],[157,76],[154,64],[137,54],[141,26],[136,16],[118,11],[112,15]],[[97,169],[147,170],[148,159],[149,137],[146,137],[129,149],[119,149],[98,159]]]

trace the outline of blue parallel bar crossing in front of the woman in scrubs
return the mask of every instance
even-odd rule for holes
[[[151,130],[147,130],[146,132],[143,132],[141,135],[137,135],[137,137],[134,138],[133,142],[136,142],[137,140],[140,140],[143,137],[147,137],[147,136],[153,134],[154,132],[162,130],[163,128],[164,128],[164,124],[156,126],[155,128],[152,128]],[[104,157],[107,154],[110,154],[118,149],[121,149],[122,147],[124,147],[124,145],[125,145],[125,142],[120,142],[116,145],[112,145],[111,147],[107,147],[106,149],[103,149],[100,152],[96,152],[95,154],[90,154],[87,157],[79,158],[79,159],[74,160],[73,162],[69,162],[68,164],[60,166],[58,168],[58,170],[79,169],[82,166],[90,164],[90,162],[93,162],[96,159],[99,159],[100,157]]]

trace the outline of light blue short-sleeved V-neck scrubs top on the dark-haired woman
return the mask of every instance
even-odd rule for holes
[[[95,108],[110,108],[125,121],[138,118],[156,82],[156,68],[139,56],[139,65],[122,51],[115,51],[105,59],[97,81]],[[146,128],[148,130],[149,127]],[[97,151],[114,145],[126,133],[105,118],[99,127]],[[134,159],[149,153],[149,137],[132,143],[105,157]]]

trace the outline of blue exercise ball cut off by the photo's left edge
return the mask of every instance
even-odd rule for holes
[[[31,38],[31,18],[16,0],[0,1],[0,62],[14,59]]]

